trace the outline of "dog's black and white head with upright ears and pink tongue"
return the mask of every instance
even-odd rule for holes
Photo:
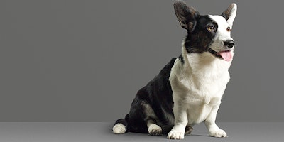
[[[234,40],[231,29],[236,17],[236,4],[231,4],[221,16],[202,16],[184,1],[175,1],[174,7],[180,25],[187,29],[184,45],[187,53],[209,52],[214,57],[232,60]]]

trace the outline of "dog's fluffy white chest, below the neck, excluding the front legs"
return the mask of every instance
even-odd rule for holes
[[[214,107],[221,104],[230,78],[229,64],[219,60],[211,62],[210,65],[206,65],[207,62],[192,62],[191,67],[183,68],[184,66],[176,61],[170,75],[170,83],[174,102],[181,104],[187,111],[188,124],[199,124],[207,119]]]

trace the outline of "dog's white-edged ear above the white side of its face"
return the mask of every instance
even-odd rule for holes
[[[233,26],[234,19],[236,18],[236,4],[231,4],[221,16],[226,19],[230,26]]]

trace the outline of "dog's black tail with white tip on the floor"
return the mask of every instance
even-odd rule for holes
[[[114,123],[114,127],[112,127],[112,132],[114,132],[116,134],[121,134],[121,133],[127,132],[128,123],[127,123],[126,119],[128,118],[128,115],[129,114],[127,114],[125,116],[125,119],[116,120],[116,122]]]

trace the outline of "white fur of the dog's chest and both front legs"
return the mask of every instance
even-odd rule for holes
[[[168,138],[183,139],[186,125],[202,121],[205,121],[210,136],[226,137],[226,132],[219,129],[215,119],[230,79],[231,61],[216,58],[209,52],[188,54],[184,46],[182,57],[185,63],[175,60],[170,73],[175,126]]]

